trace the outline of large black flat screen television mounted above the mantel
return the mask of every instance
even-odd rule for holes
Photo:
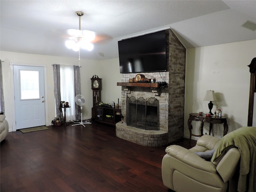
[[[120,73],[167,70],[165,30],[118,41]]]

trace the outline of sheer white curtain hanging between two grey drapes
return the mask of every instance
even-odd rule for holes
[[[60,95],[62,101],[68,102],[70,106],[70,108],[66,108],[67,122],[76,118],[74,90],[74,67],[60,65]]]

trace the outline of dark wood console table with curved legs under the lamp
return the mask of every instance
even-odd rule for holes
[[[194,135],[192,134],[191,130],[192,130],[192,121],[200,121],[201,125],[200,125],[200,135]],[[204,122],[210,123],[210,129],[209,129],[209,135],[211,135],[211,131],[212,131],[212,124],[222,124],[224,126],[224,130],[223,130],[223,136],[227,134],[228,132],[228,124],[227,124],[227,118],[222,116],[222,117],[214,117],[214,116],[210,116],[210,117],[206,117],[205,115],[199,115],[198,113],[190,113],[189,114],[189,118],[188,118],[188,129],[190,132],[190,137],[189,139],[191,140],[191,136],[202,136],[203,135],[203,128],[204,128]]]

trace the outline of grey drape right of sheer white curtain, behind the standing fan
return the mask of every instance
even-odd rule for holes
[[[74,66],[74,93],[75,96],[81,94],[80,66]],[[81,120],[81,107],[75,104],[75,119]]]

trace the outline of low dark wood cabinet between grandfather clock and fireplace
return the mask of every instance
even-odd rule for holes
[[[94,106],[92,119],[96,122],[115,126],[122,119],[122,110],[104,106]]]

